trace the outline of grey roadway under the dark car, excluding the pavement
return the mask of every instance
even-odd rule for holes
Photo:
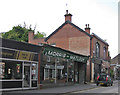
[[[118,93],[118,83],[113,84],[113,86],[99,86],[98,88],[76,91],[72,93]]]

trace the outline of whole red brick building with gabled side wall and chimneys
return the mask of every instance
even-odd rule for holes
[[[29,32],[29,43],[46,43],[74,53],[90,56],[87,62],[87,81],[94,80],[97,73],[108,70],[108,43],[96,34],[90,34],[89,24],[85,30],[72,23],[72,14],[66,10],[65,22],[47,38],[34,39],[34,33]]]

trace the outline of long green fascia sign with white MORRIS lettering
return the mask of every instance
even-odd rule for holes
[[[74,55],[65,51],[55,50],[55,49],[47,49],[45,48],[43,51],[44,55],[52,56],[52,57],[59,57],[64,59],[70,59],[78,62],[86,63],[88,57]]]

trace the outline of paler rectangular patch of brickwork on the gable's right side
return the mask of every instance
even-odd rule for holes
[[[90,55],[90,38],[87,36],[83,37],[72,37],[69,38],[69,50],[83,54]]]

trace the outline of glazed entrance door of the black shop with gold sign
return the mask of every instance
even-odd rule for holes
[[[30,88],[30,79],[31,79],[31,73],[30,73],[30,65],[24,65],[24,87]]]

